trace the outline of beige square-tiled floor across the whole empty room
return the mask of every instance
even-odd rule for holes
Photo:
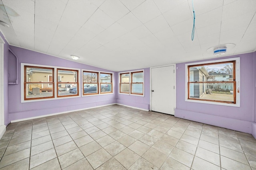
[[[1,170],[256,170],[250,134],[112,105],[11,123]]]

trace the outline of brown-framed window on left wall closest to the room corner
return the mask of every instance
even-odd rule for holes
[[[100,73],[100,92],[101,93],[112,92],[112,74]]]

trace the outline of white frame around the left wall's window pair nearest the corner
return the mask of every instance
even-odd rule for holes
[[[98,90],[99,90],[99,93],[98,94],[84,94],[84,71],[85,72],[97,72],[98,73]],[[101,93],[100,91],[100,73],[107,73],[107,74],[112,74],[112,92],[103,92]],[[114,94],[114,72],[107,72],[107,71],[97,71],[97,70],[86,70],[86,69],[82,69],[82,81],[81,81],[81,95],[82,97],[87,97],[87,96],[99,96],[99,95],[109,95],[109,94]]]

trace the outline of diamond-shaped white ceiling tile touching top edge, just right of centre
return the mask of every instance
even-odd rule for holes
[[[136,16],[142,23],[146,23],[147,21],[156,18],[161,15],[161,12],[157,8],[156,4],[153,0],[146,0],[142,4],[140,4],[137,8],[132,10],[132,14]]]

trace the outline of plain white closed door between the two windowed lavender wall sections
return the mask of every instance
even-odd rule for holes
[[[174,65],[151,68],[151,110],[174,115]]]

